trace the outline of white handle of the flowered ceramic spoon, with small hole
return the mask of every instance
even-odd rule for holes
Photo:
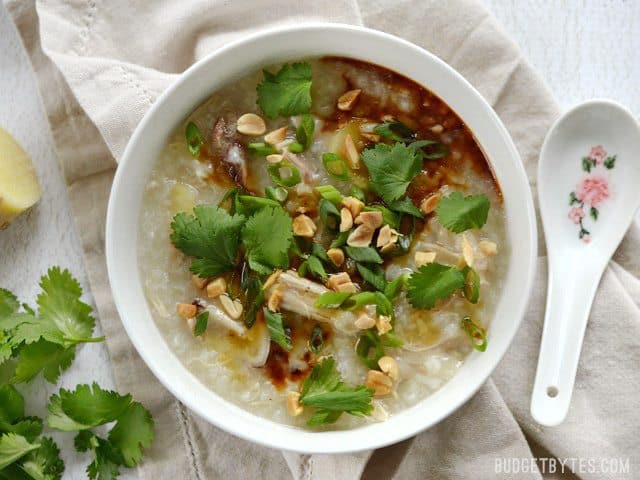
[[[570,257],[559,260],[550,261],[544,329],[531,397],[531,415],[550,427],[567,416],[591,304],[606,266]]]

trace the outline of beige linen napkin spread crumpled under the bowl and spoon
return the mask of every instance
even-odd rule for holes
[[[37,15],[34,0],[9,0],[8,6],[39,76],[118,386],[146,403],[156,419],[156,441],[139,468],[141,478],[542,478],[536,471],[496,473],[496,461],[532,456],[564,460],[564,477],[572,477],[573,469],[585,479],[638,478],[640,233],[635,227],[602,280],[572,409],[556,428],[540,427],[529,415],[546,293],[543,243],[528,314],[492,379],[447,420],[373,453],[282,455],[209,425],[151,375],[112,303],[103,244],[113,158],[120,157],[142,115],[179,72],[265,25],[364,24],[431,50],[493,105],[535,187],[538,150],[557,107],[477,1],[48,0],[36,2]],[[568,458],[627,459],[629,474],[590,472]]]

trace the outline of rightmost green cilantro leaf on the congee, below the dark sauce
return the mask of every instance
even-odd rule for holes
[[[481,228],[487,223],[489,198],[485,194],[462,196],[453,192],[438,202],[436,215],[445,228],[461,233],[471,228]]]

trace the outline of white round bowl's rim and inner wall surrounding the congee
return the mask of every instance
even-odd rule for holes
[[[337,55],[394,70],[443,99],[469,126],[502,187],[509,267],[486,352],[474,351],[436,393],[386,422],[344,431],[313,432],[253,415],[203,385],[171,351],[152,318],[138,270],[142,192],[178,125],[214,91],[257,68]],[[107,214],[109,280],[122,323],[140,356],[182,403],[212,424],[269,447],[306,453],[377,448],[413,436],[450,415],[486,381],[509,347],[529,298],[537,251],[533,201],[520,157],[506,128],[480,94],[429,52],[365,28],[306,24],[277,28],[232,43],[199,61],[167,89],[136,128],[118,167]]]

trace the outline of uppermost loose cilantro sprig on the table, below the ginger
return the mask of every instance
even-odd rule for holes
[[[0,289],[0,366],[11,382],[27,382],[38,373],[55,383],[71,365],[76,345],[101,342],[92,337],[91,307],[80,300],[82,288],[68,270],[49,269],[40,280],[38,312]]]

